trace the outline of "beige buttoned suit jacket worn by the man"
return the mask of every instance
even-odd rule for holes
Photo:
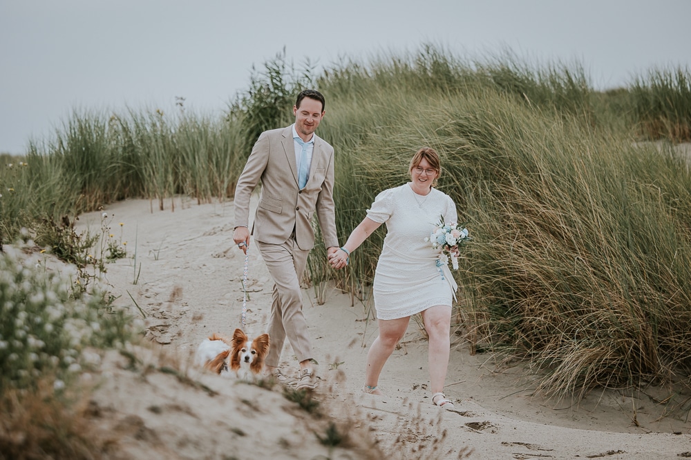
[[[235,225],[249,224],[249,199],[261,180],[252,234],[256,241],[281,244],[295,228],[298,247],[314,247],[316,212],[327,248],[339,246],[334,209],[334,148],[314,134],[310,177],[298,188],[292,126],[263,132],[252,148],[235,188]]]

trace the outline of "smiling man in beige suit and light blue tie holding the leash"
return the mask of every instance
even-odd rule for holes
[[[334,210],[334,148],[314,134],[325,114],[323,95],[315,90],[298,94],[295,123],[263,132],[235,189],[233,240],[245,254],[249,248],[249,198],[261,180],[261,197],[252,234],[274,279],[267,332],[271,348],[266,365],[279,383],[314,388],[312,346],[303,314],[300,279],[307,254],[314,247],[312,217],[316,213],[328,254],[339,250]],[[285,337],[300,362],[299,378],[281,372],[278,362]]]

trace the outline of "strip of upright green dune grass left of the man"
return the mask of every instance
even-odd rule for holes
[[[131,197],[159,209],[180,194],[227,199],[249,152],[243,132],[240,123],[182,111],[75,111],[53,139],[30,141],[21,165],[0,165],[0,234],[8,241],[41,219]]]

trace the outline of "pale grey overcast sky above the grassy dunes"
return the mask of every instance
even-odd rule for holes
[[[419,50],[578,61],[596,88],[691,66],[689,0],[0,0],[0,152],[50,139],[73,109],[220,114],[285,47],[339,57]]]

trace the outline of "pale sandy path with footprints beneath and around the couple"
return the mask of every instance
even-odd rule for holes
[[[169,201],[166,205],[164,211],[151,212],[149,201],[133,200],[106,208],[111,232],[120,239],[122,230],[128,250],[126,259],[108,264],[106,279],[119,296],[117,305],[135,311],[133,298],[146,312],[146,337],[155,344],[149,359],[160,361],[156,353],[162,351],[172,354],[185,372],[225,396],[210,397],[169,376],[151,376],[142,384],[141,375],[133,378],[123,369],[122,357],[106,357],[111,366],[104,373],[108,381],[94,398],[106,414],[104,423],[122,429],[119,442],[129,449],[130,458],[146,458],[152,445],[160,450],[173,444],[180,448],[170,451],[172,458],[222,458],[228,449],[235,449],[237,458],[249,458],[252,452],[276,459],[324,455],[323,446],[305,428],[307,422],[301,419],[303,428],[296,426],[299,414],[286,408],[278,390],[231,385],[189,367],[189,354],[202,339],[211,332],[231,334],[240,326],[244,257],[231,241],[232,203],[199,206],[176,199],[174,212]],[[100,212],[84,214],[79,228],[94,233],[100,222]],[[254,246],[249,252],[248,288],[246,329],[263,332],[272,281]],[[366,306],[350,306],[350,296],[332,288],[321,306],[313,290],[304,293],[310,299],[305,315],[322,379],[318,399],[332,417],[350,418],[352,430],[370,432],[391,458],[458,458],[473,449],[471,458],[476,459],[659,459],[691,451],[691,421],[655,421],[662,408],[645,394],[634,399],[616,392],[591,394],[578,405],[531,397],[529,379],[522,377],[520,368],[497,372],[489,354],[471,356],[460,337],[454,337],[446,388],[447,396],[460,402],[455,412],[439,410],[430,404],[426,341],[414,321],[384,368],[380,385],[387,395],[363,395],[363,364],[377,335],[376,324],[366,319]],[[290,346],[283,359],[287,368],[295,368]],[[650,390],[657,396],[665,391]],[[238,402],[247,401],[247,394],[261,401],[249,413],[247,404]],[[117,408],[119,398],[127,401],[122,409]],[[261,425],[264,451],[240,442],[246,436],[227,437],[237,411]],[[632,423],[634,418],[639,426]],[[133,425],[139,429],[123,428]],[[366,458],[361,452],[339,452],[330,455]]]

